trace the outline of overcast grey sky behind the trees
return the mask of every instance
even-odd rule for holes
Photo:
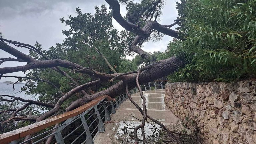
[[[175,1],[166,0],[163,8],[163,15],[160,17],[160,24],[171,24],[177,17]],[[67,19],[68,15],[75,16],[75,8],[79,7],[83,13],[94,13],[94,6],[108,4],[104,0],[0,0],[0,31],[3,38],[34,45],[36,41],[42,44],[44,49],[62,43],[65,36],[62,30],[68,29],[60,22],[60,18]],[[121,5],[121,14],[126,14],[125,6]],[[113,20],[115,28],[123,28]],[[148,42],[142,48],[147,52],[164,51],[172,38],[164,36],[159,42]],[[28,53],[25,48],[18,48],[24,53]],[[0,58],[13,57],[0,50]],[[21,62],[4,62],[1,67],[21,66]],[[24,76],[22,72],[8,75]],[[2,78],[1,82],[17,78]]]

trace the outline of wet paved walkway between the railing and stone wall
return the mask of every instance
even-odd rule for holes
[[[164,95],[165,90],[151,90],[143,92],[146,98],[146,106],[148,115],[159,120],[165,125],[171,125],[176,123],[178,119],[172,114],[172,112],[165,106]],[[142,108],[142,99],[139,93],[131,95],[132,99]],[[133,122],[135,125],[139,125],[140,122],[132,117],[130,114],[134,115],[136,118],[142,119],[142,115],[138,109],[127,99],[124,101],[120,108],[116,109],[116,113],[111,115],[111,121],[105,123],[105,132],[98,133],[94,143],[95,144],[113,144],[112,140],[114,138],[117,129],[121,129],[125,122]]]

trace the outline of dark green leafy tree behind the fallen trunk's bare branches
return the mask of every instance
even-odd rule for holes
[[[62,44],[50,47],[48,51],[42,49],[42,46],[37,42],[35,47],[43,54],[51,58],[60,58],[68,60],[84,67],[90,67],[96,71],[112,74],[113,72],[107,66],[106,62],[101,58],[99,53],[94,49],[96,47],[109,61],[109,63],[119,72],[128,72],[137,69],[136,65],[131,61],[125,60],[125,54],[130,53],[125,39],[122,37],[127,33],[118,32],[112,25],[112,15],[107,11],[105,5],[95,7],[95,13],[82,13],[79,8],[76,8],[77,16],[68,16],[67,20],[61,18],[61,22],[69,26],[69,30],[64,30],[66,36]],[[44,57],[30,51],[30,56],[44,60]],[[74,73],[66,68],[60,68],[70,75],[78,84],[84,84],[95,78],[81,73]],[[56,85],[64,93],[74,88],[69,78],[50,68],[37,68],[28,72],[27,76],[38,79],[48,80]],[[92,94],[95,91],[107,88],[112,83],[106,82],[99,86],[92,87],[87,90],[87,93]],[[45,103],[55,104],[62,96],[61,93],[52,85],[45,82],[30,81],[23,88],[26,94],[39,95],[39,100]],[[80,98],[81,93],[76,93],[74,96],[65,101],[62,105],[66,108],[70,102]]]

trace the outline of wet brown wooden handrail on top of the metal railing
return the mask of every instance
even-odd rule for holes
[[[111,100],[111,101],[115,101],[115,99],[111,98],[108,95],[99,96],[99,97],[95,98],[93,101],[91,101],[87,104],[84,104],[72,111],[42,120],[40,122],[33,123],[31,125],[28,125],[28,126],[25,126],[25,127],[22,127],[22,128],[19,128],[19,129],[16,129],[16,130],[13,130],[13,131],[10,131],[7,133],[0,134],[0,143],[7,144],[11,141],[23,138],[26,135],[33,134],[37,131],[45,129],[45,128],[52,126],[56,123],[67,120],[68,118],[77,116],[77,115],[85,112],[89,108],[97,105],[101,100],[104,100],[105,98],[108,100]]]

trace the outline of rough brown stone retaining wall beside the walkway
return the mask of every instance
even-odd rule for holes
[[[256,144],[256,81],[168,83],[165,104],[180,119],[197,117],[206,143]]]

